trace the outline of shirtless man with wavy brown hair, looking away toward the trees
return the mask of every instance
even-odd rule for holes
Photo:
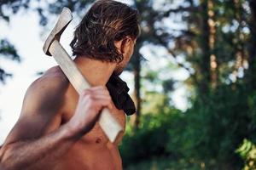
[[[120,139],[110,143],[97,119],[102,107],[108,107],[125,127],[125,113],[135,112],[129,88],[118,75],[139,35],[137,15],[124,3],[93,4],[71,42],[74,62],[92,88],[77,94],[59,66],[32,82],[19,120],[0,150],[1,170],[122,169]]]

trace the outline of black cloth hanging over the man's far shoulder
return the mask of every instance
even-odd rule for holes
[[[128,88],[125,81],[119,76],[112,74],[106,87],[116,108],[125,111],[127,116],[131,116],[136,112],[134,102],[128,94],[130,88]]]

